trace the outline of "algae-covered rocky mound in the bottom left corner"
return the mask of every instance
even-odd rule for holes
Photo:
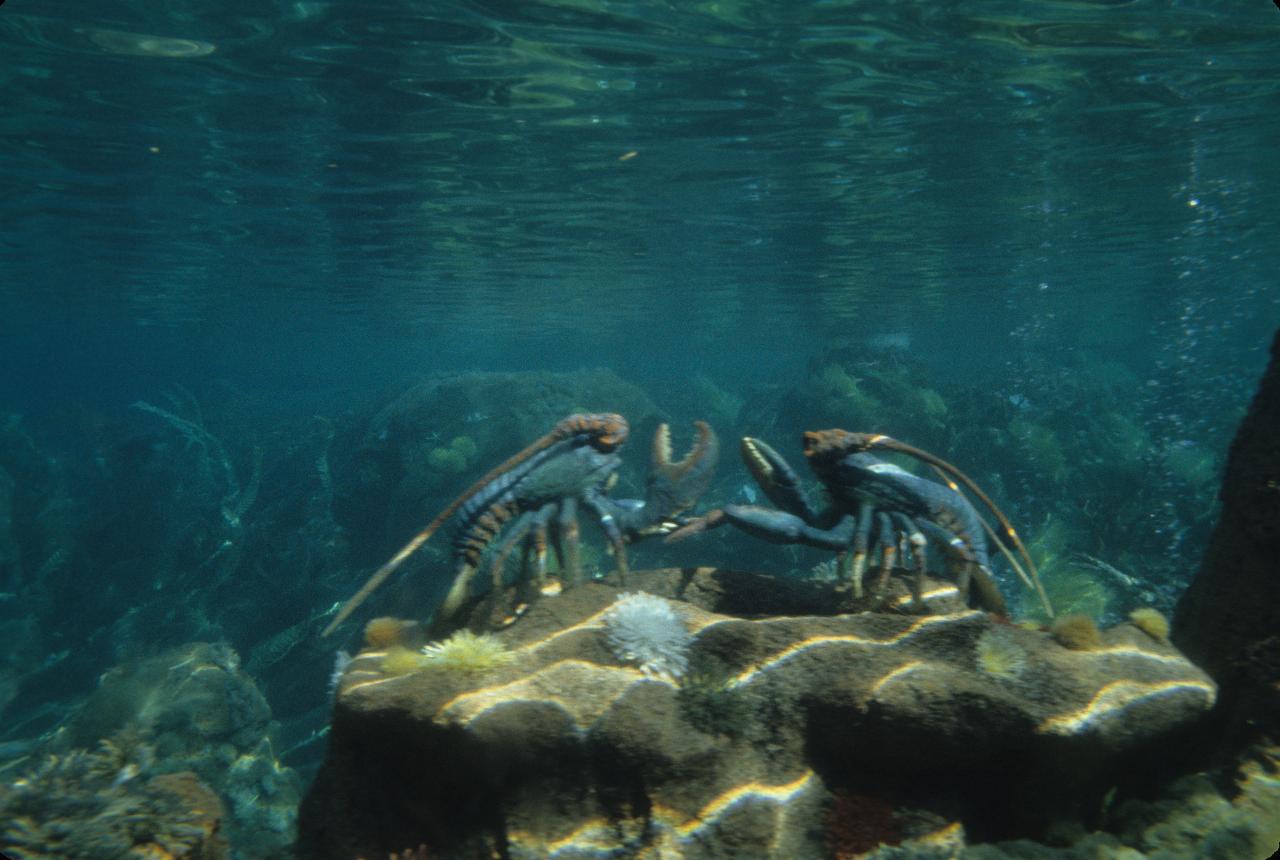
[[[227,645],[196,642],[116,665],[0,788],[15,857],[291,855],[297,777],[270,708]]]

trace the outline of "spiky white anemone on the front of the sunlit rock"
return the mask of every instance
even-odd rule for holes
[[[689,668],[692,637],[671,603],[643,591],[623,594],[604,613],[613,654],[645,674],[678,680]]]

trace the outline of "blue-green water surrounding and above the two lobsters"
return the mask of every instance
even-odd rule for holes
[[[1261,1],[9,0],[0,742],[227,641],[310,773],[314,628],[573,408],[632,418],[630,494],[710,420],[704,507],[754,493],[737,435],[892,433],[1056,600],[1167,612],[1280,325],[1277,41]]]

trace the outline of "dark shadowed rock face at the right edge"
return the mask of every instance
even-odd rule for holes
[[[1231,443],[1222,514],[1172,639],[1222,687],[1213,735],[1280,738],[1280,333]]]

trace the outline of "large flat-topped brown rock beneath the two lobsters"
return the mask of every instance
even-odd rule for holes
[[[652,596],[623,610],[628,593]],[[833,614],[829,584],[684,568],[543,596],[425,654],[416,625],[370,625],[300,854],[829,857],[1011,838],[1097,802],[1126,756],[1215,701],[1133,623],[1082,645],[968,609],[951,584],[927,598],[932,614]]]

